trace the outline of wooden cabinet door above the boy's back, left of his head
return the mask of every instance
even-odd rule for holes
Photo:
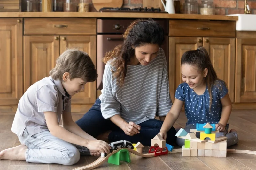
[[[24,36],[24,92],[48,77],[59,56],[59,36]]]

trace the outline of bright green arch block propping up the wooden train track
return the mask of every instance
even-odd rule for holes
[[[110,164],[120,165],[120,161],[125,161],[128,163],[131,162],[130,154],[127,149],[121,149],[120,151],[111,155],[108,158],[108,163],[110,163]]]

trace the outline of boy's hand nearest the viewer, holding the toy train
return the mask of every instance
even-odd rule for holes
[[[100,153],[109,153],[110,152],[110,146],[107,142],[103,140],[89,140],[88,144],[85,146],[89,150],[97,150]],[[95,153],[95,152],[94,152]]]

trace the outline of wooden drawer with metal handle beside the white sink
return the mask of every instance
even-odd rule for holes
[[[169,36],[235,37],[235,21],[169,20]]]

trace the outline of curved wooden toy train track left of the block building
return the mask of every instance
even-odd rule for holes
[[[90,169],[94,169],[98,166],[100,166],[101,164],[103,164],[106,160],[108,160],[108,158],[114,154],[114,153],[117,153],[118,151],[120,151],[121,149],[123,148],[119,148],[117,150],[114,150],[112,153],[109,153],[106,157],[102,158],[102,157],[99,157],[97,160],[95,160],[93,163],[89,164],[89,165],[86,165],[86,166],[83,166],[83,167],[78,167],[78,168],[75,168],[73,170],[90,170]],[[137,155],[137,156],[141,156],[141,157],[144,157],[144,158],[150,158],[150,157],[154,157],[155,156],[155,153],[146,153],[146,154],[142,154],[142,153],[138,153],[137,151],[133,150],[133,149],[130,149],[130,148],[125,148],[127,149],[129,152]],[[168,153],[177,153],[177,152],[182,152],[182,149],[173,149],[172,152],[168,151]]]

